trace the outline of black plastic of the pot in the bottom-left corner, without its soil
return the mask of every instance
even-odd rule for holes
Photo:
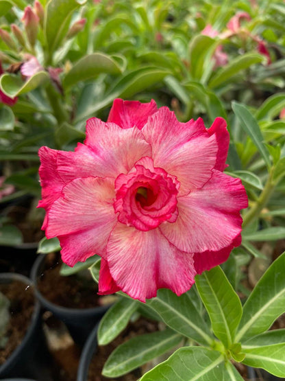
[[[32,286],[32,281],[20,274],[0,273],[0,283],[21,281]],[[52,381],[49,371],[49,351],[42,332],[40,321],[40,303],[35,298],[34,312],[27,332],[12,355],[0,366],[0,379],[11,377],[36,378],[40,381]]]

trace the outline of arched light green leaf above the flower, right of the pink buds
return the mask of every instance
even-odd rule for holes
[[[62,84],[67,89],[79,81],[94,79],[100,73],[119,74],[121,69],[118,63],[107,54],[99,52],[89,54],[73,65],[72,69],[64,77]]]

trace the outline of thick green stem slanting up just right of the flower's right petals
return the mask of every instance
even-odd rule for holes
[[[253,203],[251,209],[249,209],[249,211],[245,214],[245,217],[243,218],[243,229],[245,229],[245,227],[252,220],[258,218],[262,209],[267,205],[267,202],[275,187],[275,183],[273,183],[273,170],[274,168],[271,168],[269,176],[267,178],[267,183],[265,184],[264,189],[258,197],[258,200],[256,200],[255,203]]]

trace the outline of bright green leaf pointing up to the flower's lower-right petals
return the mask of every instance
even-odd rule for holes
[[[229,348],[234,341],[234,334],[242,315],[238,295],[219,266],[197,275],[195,281],[210,315],[214,334]]]

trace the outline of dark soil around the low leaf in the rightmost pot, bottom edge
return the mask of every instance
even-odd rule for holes
[[[147,319],[140,318],[137,321],[130,322],[127,328],[117,338],[115,338],[112,343],[99,346],[97,348],[97,351],[90,362],[88,381],[110,381],[110,378],[106,378],[101,375],[101,371],[112,351],[132,337],[156,331],[158,331],[158,323],[156,321],[149,321]],[[114,380],[135,381],[141,376],[143,376],[141,369],[134,369],[134,371],[126,374],[125,376],[114,378]]]

